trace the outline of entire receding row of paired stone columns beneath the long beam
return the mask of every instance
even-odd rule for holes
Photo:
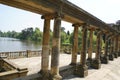
[[[61,30],[61,20],[63,16],[61,14],[55,15],[43,15],[44,19],[44,30],[43,30],[43,43],[42,43],[42,63],[41,71],[43,80],[62,80],[59,74],[59,55],[60,55],[60,30]],[[51,54],[51,65],[49,65],[49,39],[50,39],[50,20],[54,19],[54,30],[53,30],[53,42],[52,42],[52,54]],[[72,47],[72,57],[70,65],[74,67],[75,75],[80,77],[85,77],[88,75],[88,66],[99,69],[101,67],[101,62],[108,63],[108,60],[113,60],[118,57],[120,53],[120,38],[118,35],[109,35],[105,33],[105,53],[103,61],[101,57],[102,49],[102,34],[104,31],[100,29],[95,29],[88,25],[87,23],[76,23],[72,25],[74,27],[74,37],[73,37],[73,47]],[[77,63],[77,53],[78,53],[78,30],[79,27],[82,28],[82,49],[80,56],[80,63]],[[89,29],[88,29],[89,28]],[[89,32],[89,47],[87,48],[87,37]],[[92,58],[93,53],[93,33],[97,32],[96,40],[96,51],[95,58]],[[88,51],[88,58],[86,59],[86,53]],[[86,63],[90,65],[87,65]],[[50,68],[49,68],[50,67]]]

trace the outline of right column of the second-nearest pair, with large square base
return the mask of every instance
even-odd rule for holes
[[[82,49],[80,56],[80,64],[76,67],[76,75],[79,77],[85,77],[88,75],[88,67],[86,65],[86,53],[87,53],[87,25],[82,25]]]

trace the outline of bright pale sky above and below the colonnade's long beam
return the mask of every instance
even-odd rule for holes
[[[105,23],[115,23],[120,20],[120,0],[68,0],[90,14],[101,19]],[[41,15],[29,11],[13,8],[0,4],[0,30],[17,31],[28,27],[39,27],[43,31],[44,20]],[[62,27],[66,31],[72,31],[71,23],[62,21]],[[51,21],[51,29],[53,30],[53,21]]]

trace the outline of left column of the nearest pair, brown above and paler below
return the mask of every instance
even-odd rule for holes
[[[50,17],[42,16],[44,19],[43,42],[42,42],[42,61],[41,71],[43,80],[49,79],[49,39],[50,39]]]

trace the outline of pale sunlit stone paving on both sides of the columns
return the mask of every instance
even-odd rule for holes
[[[21,58],[10,60],[19,66],[27,67],[29,72],[28,75],[37,73],[41,68],[41,57],[32,58]],[[77,62],[80,61],[78,55]],[[60,55],[60,67],[69,65],[71,62],[71,55],[61,54]],[[89,69],[88,76],[85,78],[79,78],[75,76],[69,76],[64,80],[120,80],[120,58],[109,61],[109,64],[102,64],[101,69]]]

